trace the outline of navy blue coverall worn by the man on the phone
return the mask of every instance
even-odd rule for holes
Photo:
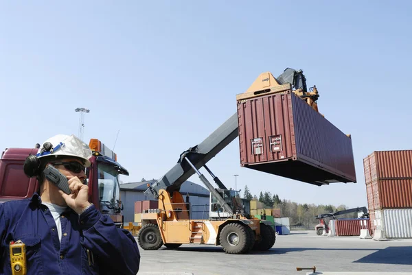
[[[67,208],[60,221],[61,242],[52,214],[37,193],[0,204],[0,274],[12,274],[10,241],[18,240],[25,243],[27,275],[135,275],[139,271],[133,235],[117,228],[95,206],[80,216]]]

